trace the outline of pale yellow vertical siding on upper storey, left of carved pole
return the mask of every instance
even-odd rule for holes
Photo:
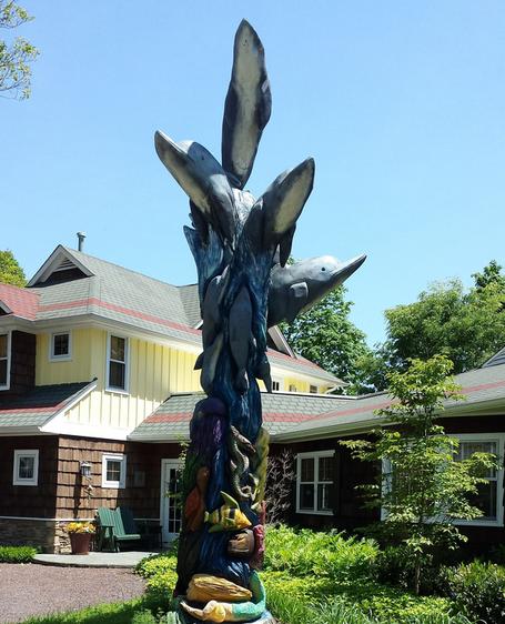
[[[122,393],[105,390],[105,330],[73,330],[69,362],[49,361],[49,339],[50,334],[38,336],[38,385],[98,379],[97,390],[68,412],[68,422],[132,429],[170,393],[201,390],[194,353],[130,338],[129,389]]]

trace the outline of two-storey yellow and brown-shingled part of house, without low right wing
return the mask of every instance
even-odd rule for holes
[[[117,504],[148,523],[161,517],[164,540],[176,532],[164,492],[180,439],[133,434],[168,397],[200,390],[200,325],[195,285],[62,245],[27,288],[0,284],[0,543],[59,551],[68,521]],[[279,330],[269,344],[276,391],[344,385]]]

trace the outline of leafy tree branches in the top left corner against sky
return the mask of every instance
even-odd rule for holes
[[[12,0],[0,0],[0,28],[10,30],[33,18]],[[30,62],[39,51],[22,37],[8,42],[0,39],[0,93],[24,100],[30,97]]]

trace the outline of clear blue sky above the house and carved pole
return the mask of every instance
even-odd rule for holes
[[[273,113],[259,195],[315,157],[296,258],[366,263],[347,282],[372,344],[430,282],[505,264],[503,0],[21,2],[41,51],[32,97],[0,99],[0,249],[33,274],[58,243],[195,280],[185,195],[153,132],[220,157],[235,29],[266,51]]]

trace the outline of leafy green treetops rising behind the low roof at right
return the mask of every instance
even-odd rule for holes
[[[386,310],[387,339],[361,362],[363,376],[386,388],[390,370],[403,371],[410,359],[446,355],[454,372],[478,368],[505,345],[505,276],[495,261],[475,273],[466,291],[459,280],[435,283],[414,303]]]

